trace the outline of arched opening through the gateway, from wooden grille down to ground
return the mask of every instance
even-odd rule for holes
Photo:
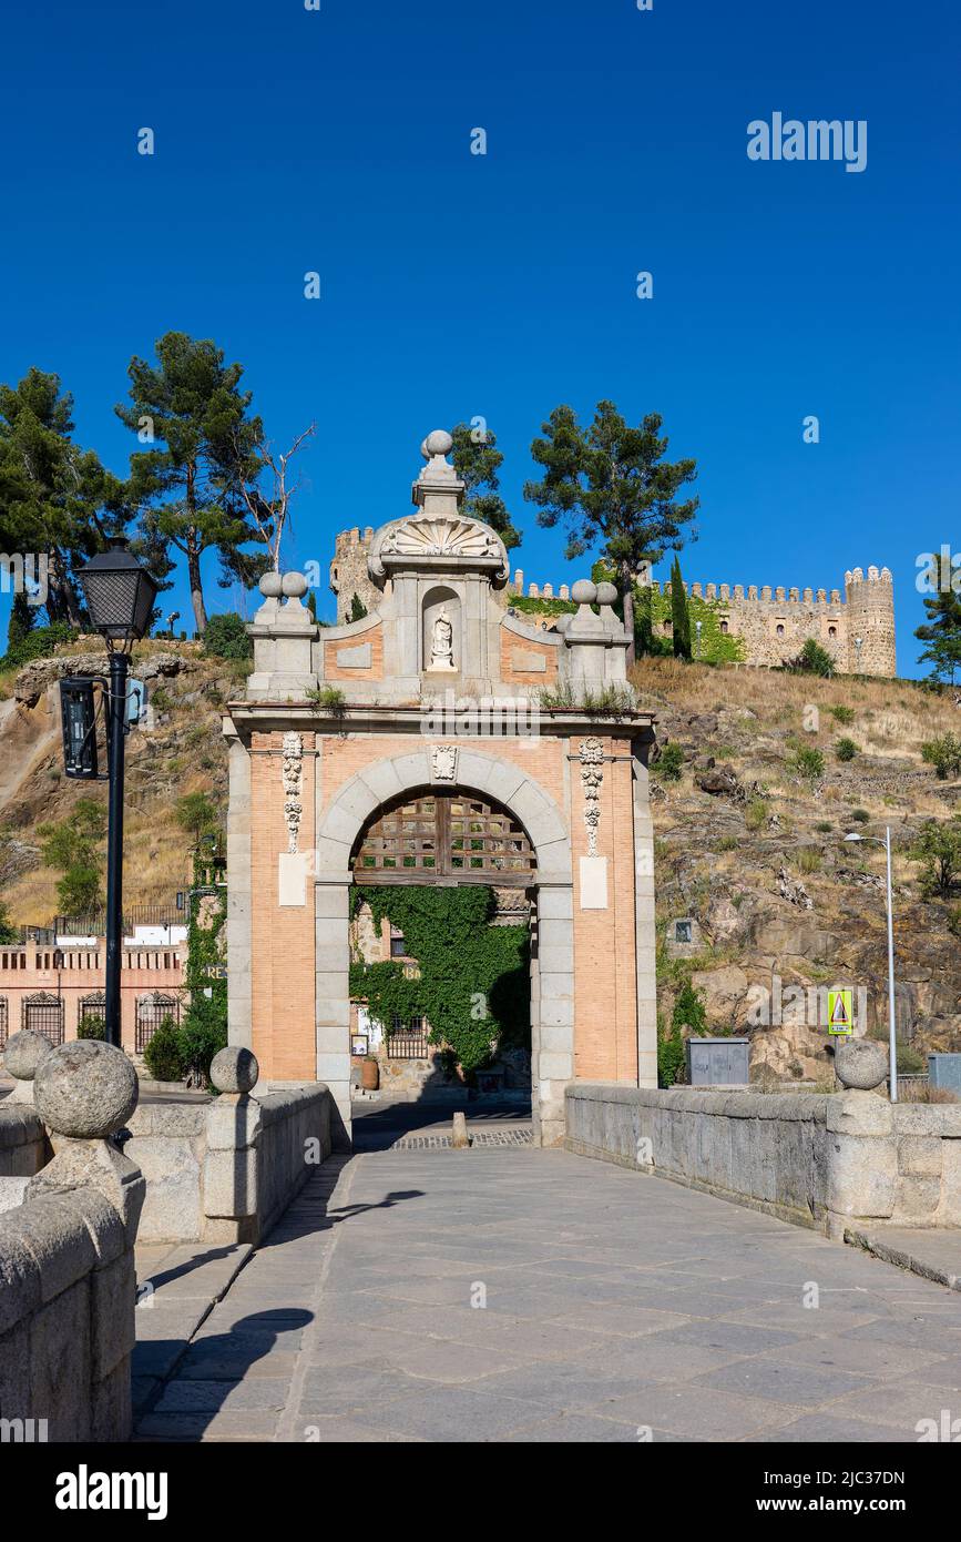
[[[396,1121],[397,1104],[408,1127],[431,1124],[460,1096],[527,1121],[537,864],[519,820],[480,794],[420,788],[368,819],[350,867],[351,1079],[370,1082],[376,1062],[382,1106],[356,1129]]]

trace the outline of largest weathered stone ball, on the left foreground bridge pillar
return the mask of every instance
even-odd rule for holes
[[[105,1140],[137,1107],[137,1072],[114,1044],[75,1039],[48,1055],[34,1078],[34,1107],[52,1130]]]

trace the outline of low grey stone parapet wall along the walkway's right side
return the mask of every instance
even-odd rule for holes
[[[870,1092],[567,1087],[568,1150],[841,1237],[855,1221],[961,1224],[961,1104]]]

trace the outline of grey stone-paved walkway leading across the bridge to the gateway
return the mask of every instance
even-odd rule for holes
[[[564,1152],[394,1149],[325,1164],[139,1433],[915,1442],[943,1409],[953,1291]]]

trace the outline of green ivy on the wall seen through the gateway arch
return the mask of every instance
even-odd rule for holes
[[[530,1047],[528,933],[491,924],[490,887],[359,884],[354,913],[363,902],[376,927],[388,919],[403,933],[419,968],[419,978],[408,979],[393,959],[351,964],[351,996],[367,1001],[385,1032],[394,1018],[424,1016],[430,1042],[450,1045],[468,1075],[488,1066],[501,1047]]]

